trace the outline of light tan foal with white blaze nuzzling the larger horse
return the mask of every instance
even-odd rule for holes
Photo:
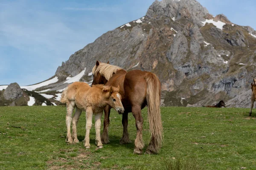
[[[74,82],[69,85],[61,94],[61,103],[67,103],[67,143],[78,143],[76,126],[82,110],[86,111],[86,133],[84,146],[90,148],[90,128],[92,126],[93,113],[95,114],[96,145],[102,148],[100,139],[100,126],[103,109],[106,105],[111,105],[119,113],[123,113],[124,108],[121,102],[121,96],[118,93],[119,87],[110,87],[95,85],[90,87],[85,82]],[[72,119],[74,108],[76,112]],[[72,120],[72,136],[70,133],[70,124]]]

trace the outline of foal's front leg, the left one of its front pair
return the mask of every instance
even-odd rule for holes
[[[93,124],[93,109],[92,107],[86,108],[86,133],[84,138],[84,146],[86,149],[90,148],[90,128]]]

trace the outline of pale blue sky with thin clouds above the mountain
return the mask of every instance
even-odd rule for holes
[[[30,85],[107,31],[143,17],[154,0],[0,0],[0,85]],[[256,29],[254,0],[198,0]]]

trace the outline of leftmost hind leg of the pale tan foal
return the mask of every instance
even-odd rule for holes
[[[67,102],[67,115],[66,115],[66,126],[67,126],[67,143],[73,143],[71,133],[70,133],[70,125],[72,121],[72,113],[75,108],[75,102],[74,101],[68,101]]]

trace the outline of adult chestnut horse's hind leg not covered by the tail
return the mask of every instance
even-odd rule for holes
[[[144,147],[144,142],[143,142],[143,138],[142,138],[142,130],[143,130],[143,117],[141,115],[141,106],[133,106],[132,107],[132,114],[135,118],[135,122],[136,122],[136,128],[137,128],[137,136],[136,139],[134,141],[134,154],[141,154],[142,153],[142,149]]]

